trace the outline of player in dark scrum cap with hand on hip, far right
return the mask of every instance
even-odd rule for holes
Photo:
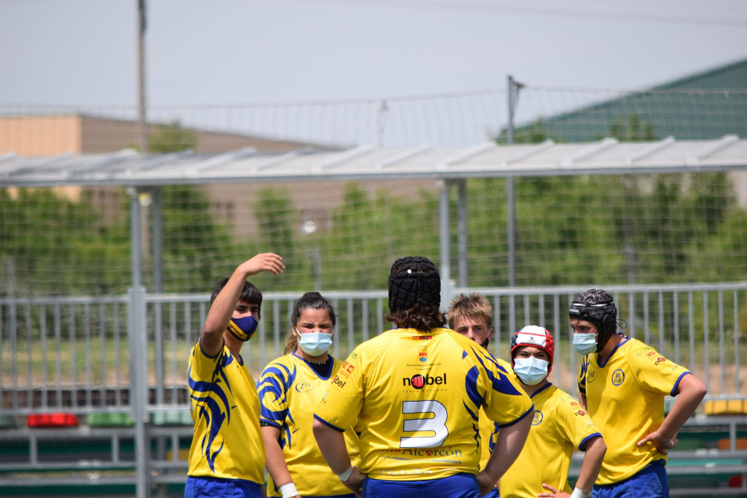
[[[706,394],[703,383],[654,348],[617,332],[617,308],[604,290],[576,296],[568,310],[584,355],[581,402],[604,434],[607,454],[595,498],[669,497],[666,454]],[[678,396],[664,417],[664,396]]]

